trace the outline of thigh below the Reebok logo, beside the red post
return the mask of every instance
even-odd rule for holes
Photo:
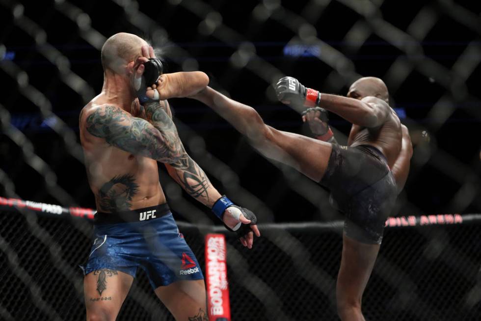
[[[204,280],[182,280],[155,290],[177,321],[208,321]]]

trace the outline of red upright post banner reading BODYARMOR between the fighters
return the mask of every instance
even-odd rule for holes
[[[230,321],[229,283],[227,282],[225,237],[206,236],[206,280],[209,321]]]

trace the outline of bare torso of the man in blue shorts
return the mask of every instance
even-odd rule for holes
[[[159,182],[157,161],[112,146],[103,138],[91,135],[86,129],[86,119],[96,109],[112,106],[103,94],[90,101],[80,113],[80,142],[85,155],[85,167],[90,188],[95,195],[97,210],[115,212],[143,208],[165,203],[165,195]],[[138,102],[131,113],[136,116]],[[165,107],[167,114],[170,109]]]

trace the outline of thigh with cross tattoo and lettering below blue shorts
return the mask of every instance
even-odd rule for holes
[[[83,280],[87,320],[115,320],[134,277],[111,269],[87,274]]]

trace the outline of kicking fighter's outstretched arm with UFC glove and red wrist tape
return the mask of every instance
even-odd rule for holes
[[[293,77],[281,78],[275,89],[279,100],[291,105],[294,109],[306,104],[322,107],[362,127],[378,127],[390,114],[389,105],[378,97],[364,97],[358,100],[355,93],[348,97],[320,93],[304,87]]]

